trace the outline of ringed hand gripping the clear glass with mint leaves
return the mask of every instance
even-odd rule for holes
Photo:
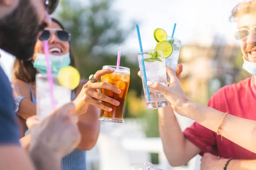
[[[147,85],[149,88],[160,91],[166,97],[166,99],[171,103],[172,108],[175,111],[177,111],[177,108],[185,104],[190,99],[184,93],[180,85],[180,81],[175,76],[172,69],[166,66],[166,72],[170,78],[170,81],[167,82],[167,86],[162,85],[159,82],[147,82]],[[182,112],[180,112],[179,114],[183,116]]]

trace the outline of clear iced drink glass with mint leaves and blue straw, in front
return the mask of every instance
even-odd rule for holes
[[[147,109],[165,108],[169,106],[167,99],[157,90],[146,86],[147,81],[167,84],[165,56],[161,50],[143,51],[138,55],[140,73]],[[145,70],[143,65],[145,65]],[[146,82],[145,82],[146,77]]]

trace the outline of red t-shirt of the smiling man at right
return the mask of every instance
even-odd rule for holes
[[[234,116],[256,120],[255,77],[252,76],[237,84],[221,88],[209,100],[208,106],[224,113],[228,112]],[[227,159],[256,159],[255,153],[244,149],[226,138],[223,138],[224,141],[221,142],[221,136],[217,136],[215,132],[198,123],[194,123],[191,127],[187,128],[184,131],[184,135],[202,150],[200,155],[208,152]]]

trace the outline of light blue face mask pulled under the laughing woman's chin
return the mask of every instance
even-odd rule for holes
[[[70,54],[63,54],[61,56],[49,55],[50,65],[52,69],[52,74],[58,74],[61,68],[70,65]],[[34,61],[34,68],[36,68],[40,73],[47,73],[47,66],[44,54],[36,54],[36,59]]]

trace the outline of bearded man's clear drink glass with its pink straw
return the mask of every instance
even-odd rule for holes
[[[49,59],[49,44],[44,41],[44,54],[47,62],[47,74],[36,74],[36,109],[39,120],[46,118],[55,108],[71,101],[71,90],[59,83],[60,78],[70,82],[69,76],[52,74],[51,62]]]

